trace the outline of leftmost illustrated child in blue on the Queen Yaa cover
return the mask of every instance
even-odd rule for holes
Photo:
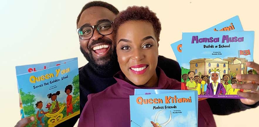
[[[49,112],[43,111],[42,101],[38,101],[35,105],[36,105],[37,108],[39,108],[39,110],[37,111],[37,114],[36,114],[36,117],[38,119],[37,127],[44,127],[44,125],[45,125],[44,114],[49,113]]]

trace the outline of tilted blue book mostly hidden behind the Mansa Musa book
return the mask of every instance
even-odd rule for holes
[[[202,31],[202,33],[211,31],[243,31],[243,27],[241,25],[239,17],[234,16],[226,21],[223,21],[215,26],[210,27],[209,29]],[[172,43],[171,48],[175,54],[175,57],[179,65],[181,65],[182,40]]]

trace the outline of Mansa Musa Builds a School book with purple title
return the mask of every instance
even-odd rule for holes
[[[242,98],[231,84],[237,74],[253,73],[254,31],[182,33],[182,90],[197,90],[199,98]]]

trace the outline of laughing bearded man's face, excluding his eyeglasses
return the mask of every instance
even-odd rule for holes
[[[77,24],[77,29],[82,26],[94,26],[104,21],[113,21],[115,14],[104,7],[90,7],[83,11]],[[114,45],[112,34],[101,35],[94,28],[93,36],[90,39],[82,40],[79,38],[80,50],[87,61],[97,66],[103,66],[114,58]],[[116,57],[115,57],[116,58]]]

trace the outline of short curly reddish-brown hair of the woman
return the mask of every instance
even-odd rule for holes
[[[161,31],[161,23],[156,16],[156,14],[151,11],[148,7],[138,7],[132,6],[128,7],[125,11],[122,11],[117,15],[114,19],[114,39],[116,39],[116,34],[118,32],[118,28],[121,24],[126,21],[146,21],[152,24],[155,37],[157,41],[159,41],[160,31]]]

